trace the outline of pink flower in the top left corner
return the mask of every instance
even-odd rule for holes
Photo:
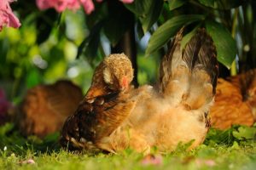
[[[0,1],[0,31],[2,31],[3,26],[20,27],[20,20],[13,14],[9,6],[9,3],[12,2],[13,0]]]

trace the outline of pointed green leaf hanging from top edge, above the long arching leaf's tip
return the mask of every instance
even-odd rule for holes
[[[151,2],[150,6],[147,9],[148,11],[145,11],[146,14],[143,14],[143,16],[140,17],[140,20],[143,25],[144,33],[148,31],[151,28],[151,26],[153,26],[154,23],[158,20],[164,4],[164,1],[148,1],[148,2]]]

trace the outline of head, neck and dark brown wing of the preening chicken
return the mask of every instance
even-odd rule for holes
[[[70,150],[98,148],[98,140],[119,127],[135,105],[129,94],[132,78],[131,61],[125,54],[106,57],[96,67],[79,108],[67,118],[61,131],[61,145]]]

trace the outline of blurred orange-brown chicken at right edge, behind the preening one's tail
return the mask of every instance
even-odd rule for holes
[[[212,127],[218,129],[235,124],[252,126],[256,119],[256,70],[227,80],[219,78],[215,103],[210,113]]]

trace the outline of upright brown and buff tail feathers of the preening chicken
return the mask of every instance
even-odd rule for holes
[[[185,48],[181,49],[183,28],[162,59],[160,92],[175,104],[183,103],[189,110],[211,103],[216,90],[218,61],[212,38],[199,29]]]

